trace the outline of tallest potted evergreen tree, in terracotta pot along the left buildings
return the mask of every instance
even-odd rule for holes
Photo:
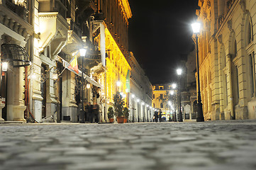
[[[123,105],[124,101],[119,92],[113,95],[113,108],[115,109],[115,115],[118,123],[123,123]]]

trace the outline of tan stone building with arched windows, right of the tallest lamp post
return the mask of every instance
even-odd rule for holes
[[[205,120],[255,119],[255,0],[199,0]]]

